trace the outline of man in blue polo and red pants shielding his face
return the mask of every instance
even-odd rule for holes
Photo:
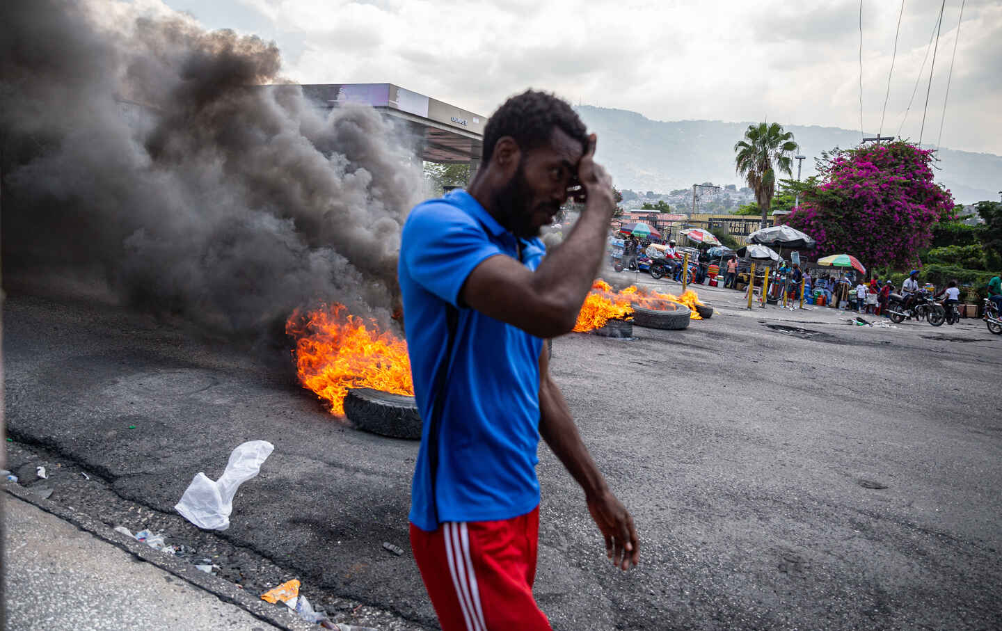
[[[633,520],[608,488],[550,378],[543,340],[571,331],[614,209],[595,136],[564,101],[512,97],[484,130],[469,191],[419,204],[399,276],[415,398],[424,420],[411,547],[445,631],[549,629],[532,596],[539,438],[584,490],[606,553],[639,561]],[[543,258],[540,228],[585,203]]]

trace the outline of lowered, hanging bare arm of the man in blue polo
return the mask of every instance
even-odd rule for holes
[[[605,538],[605,554],[613,565],[628,570],[640,562],[633,518],[609,490],[594,459],[584,446],[570,409],[550,379],[546,345],[539,357],[539,434],[584,490],[588,512]]]

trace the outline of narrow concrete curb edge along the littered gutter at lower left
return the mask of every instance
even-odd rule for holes
[[[317,625],[308,623],[292,611],[267,603],[255,594],[248,594],[235,585],[211,574],[198,570],[190,563],[171,555],[163,554],[144,543],[115,532],[105,524],[70,507],[42,499],[30,490],[13,482],[3,481],[3,490],[19,500],[23,500],[38,509],[73,524],[101,541],[109,543],[120,550],[140,559],[150,565],[168,572],[182,581],[200,588],[215,596],[224,603],[239,607],[252,616],[288,631],[303,631],[316,629]]]

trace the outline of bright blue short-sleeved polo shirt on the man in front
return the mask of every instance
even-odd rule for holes
[[[425,420],[410,520],[422,530],[441,522],[509,519],[539,504],[542,340],[459,299],[467,276],[485,259],[521,255],[535,269],[544,252],[542,241],[517,239],[465,190],[417,205],[404,225],[398,273],[414,395]],[[451,359],[449,304],[459,314]],[[450,361],[433,492],[427,420],[436,372]]]

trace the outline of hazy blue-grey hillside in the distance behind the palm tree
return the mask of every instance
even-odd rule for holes
[[[667,192],[705,181],[744,185],[734,174],[733,146],[750,122],[660,121],[622,109],[591,105],[575,109],[588,129],[598,134],[596,157],[612,173],[618,188]],[[837,145],[855,146],[860,140],[859,131],[839,127],[785,127],[794,132],[808,156],[803,177],[815,173],[814,158],[822,151]],[[937,180],[953,192],[958,203],[998,199],[1002,156],[942,148],[939,157]]]

